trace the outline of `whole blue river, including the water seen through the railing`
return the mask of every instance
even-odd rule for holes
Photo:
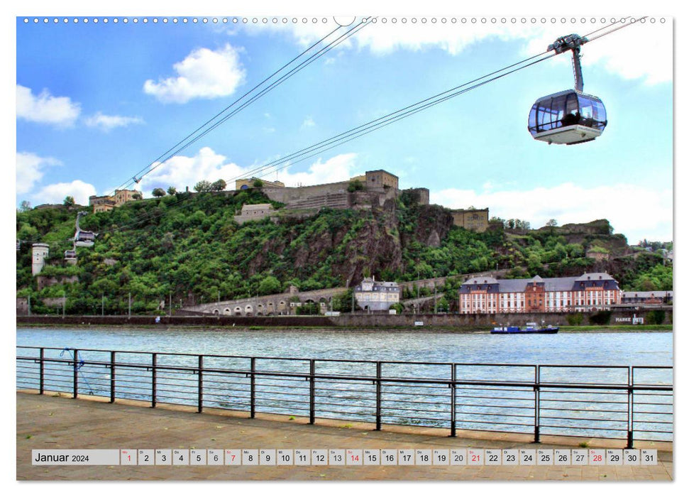
[[[21,346],[57,349],[45,351],[46,359],[58,359],[45,366],[45,386],[67,393],[73,388],[74,366],[59,359],[73,357],[78,349],[79,360],[85,361],[77,373],[79,393],[103,396],[110,395],[110,354],[87,349],[126,351],[116,356],[118,398],[151,401],[155,384],[158,402],[197,405],[198,355],[204,355],[209,370],[203,375],[205,406],[247,411],[254,398],[257,412],[309,415],[309,398],[314,398],[318,417],[375,422],[380,395],[382,422],[399,425],[450,427],[454,403],[460,429],[529,433],[537,417],[543,434],[624,439],[630,379],[646,386],[672,384],[671,368],[639,367],[673,365],[671,332],[31,328],[16,333],[18,356],[32,358],[18,361],[18,388],[38,388],[38,361],[33,359],[38,351]],[[140,352],[158,353],[155,364],[163,368],[155,380],[153,356]],[[253,379],[250,368],[258,372]],[[311,387],[309,368],[319,376]],[[377,374],[384,378],[378,392]],[[448,388],[453,377],[465,382],[454,391]],[[536,378],[539,389],[534,388]],[[671,391],[634,393],[636,437],[671,439],[672,399]]]

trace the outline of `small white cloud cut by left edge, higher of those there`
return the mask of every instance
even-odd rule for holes
[[[72,126],[81,112],[81,106],[72,102],[70,97],[53,97],[47,89],[39,95],[34,95],[31,88],[17,84],[16,92],[18,119],[55,126]]]

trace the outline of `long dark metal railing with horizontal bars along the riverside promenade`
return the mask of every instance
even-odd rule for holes
[[[17,346],[38,393],[321,419],[671,441],[671,366],[345,361]]]

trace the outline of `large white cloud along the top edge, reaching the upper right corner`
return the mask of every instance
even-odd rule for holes
[[[506,17],[505,24],[499,20],[500,18],[495,23],[488,19],[486,23],[483,23],[480,18],[473,23],[472,17],[465,18],[465,23],[461,22],[461,17],[455,18],[456,22],[453,23],[453,18],[449,16],[446,17],[445,23],[441,22],[442,17],[436,17],[436,23],[431,22],[432,16],[426,17],[425,23],[421,22],[423,19],[421,16],[408,16],[406,23],[402,23],[402,16],[395,16],[395,18],[397,21],[392,23],[392,17],[378,17],[375,23],[360,29],[351,38],[338,45],[335,50],[365,49],[375,55],[387,55],[395,50],[419,51],[440,48],[450,55],[458,55],[475,43],[495,39],[514,42],[522,48],[522,55],[529,57],[544,52],[548,45],[560,36],[570,33],[587,35],[611,23],[610,18],[605,18],[605,23],[602,23],[600,17],[595,18],[595,23],[591,23],[591,18],[587,18],[587,22],[582,23],[580,17],[576,18],[575,23],[571,23],[571,17],[566,18],[565,23],[561,22],[560,17],[556,18],[555,23],[551,22],[551,17],[546,18],[546,23],[541,23],[541,17],[539,17],[536,24],[531,23],[531,17],[525,17],[526,22],[522,23],[521,16],[515,17],[514,23],[512,23],[512,17]],[[412,23],[412,18],[416,18],[417,22]],[[582,51],[584,55],[582,62],[585,65],[584,81],[586,81],[587,70],[591,66],[603,67],[607,72],[625,79],[641,79],[646,84],[672,81],[672,21],[666,18],[666,22],[661,23],[660,19],[654,18],[654,23],[651,23],[650,19],[644,23],[636,22],[634,26],[619,29],[585,45]],[[615,20],[619,21],[619,17]],[[355,24],[359,21],[360,18],[357,18]],[[622,26],[622,24],[617,24],[617,26]],[[282,31],[304,48],[323,38],[332,28],[331,24],[323,23],[268,23],[248,27],[250,32],[267,29]],[[331,35],[326,43],[335,40],[345,33],[345,30],[346,28],[341,28]],[[590,38],[600,33],[594,33]],[[326,64],[334,62],[330,57],[334,53],[331,51],[328,54]],[[545,63],[571,65],[571,57],[563,54]]]

